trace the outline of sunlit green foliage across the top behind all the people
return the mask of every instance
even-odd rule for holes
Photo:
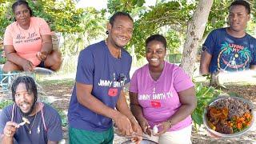
[[[3,38],[6,26],[14,22],[11,4],[14,0],[1,0],[0,38]],[[156,0],[154,6],[145,6],[145,0],[108,0],[107,9],[95,10],[93,7],[76,8],[75,0],[28,0],[34,16],[44,18],[51,30],[62,36],[62,54],[78,54],[91,41],[106,38],[106,22],[111,14],[121,10],[129,12],[134,18],[134,37],[127,50],[132,50],[138,59],[144,56],[145,39],[151,34],[163,34],[168,40],[171,53],[182,53],[187,22],[190,20],[198,0],[166,1]],[[232,0],[214,0],[204,38],[216,28],[226,26],[228,6]],[[252,7],[252,19],[248,31],[254,34],[255,7]]]

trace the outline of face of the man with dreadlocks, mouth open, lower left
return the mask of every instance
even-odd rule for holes
[[[34,93],[26,90],[25,83],[19,83],[14,94],[15,103],[24,115],[31,114],[34,109]]]

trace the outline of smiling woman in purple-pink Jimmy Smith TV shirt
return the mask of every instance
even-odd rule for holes
[[[146,39],[149,63],[131,78],[130,109],[151,140],[161,144],[191,143],[194,84],[182,68],[164,61],[165,56],[166,38],[155,34]],[[158,126],[156,134],[154,126]]]

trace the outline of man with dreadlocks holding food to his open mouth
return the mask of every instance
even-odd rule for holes
[[[11,92],[14,103],[0,114],[1,143],[58,143],[62,139],[62,120],[54,108],[37,102],[34,79],[16,78]]]

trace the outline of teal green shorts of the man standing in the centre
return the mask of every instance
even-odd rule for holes
[[[109,130],[102,132],[78,130],[69,128],[70,144],[112,144],[114,140],[114,129],[111,127]]]

